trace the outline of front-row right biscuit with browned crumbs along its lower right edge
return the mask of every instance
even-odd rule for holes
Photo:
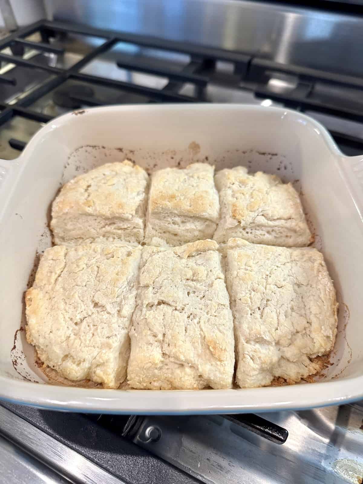
[[[323,256],[231,239],[226,280],[234,318],[240,387],[289,383],[317,373],[312,361],[333,348],[337,307]]]

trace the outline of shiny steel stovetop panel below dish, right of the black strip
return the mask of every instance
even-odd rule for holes
[[[204,483],[362,483],[363,404],[261,416],[288,430],[285,444],[218,416],[148,417],[134,442]],[[150,427],[161,438],[145,443]]]

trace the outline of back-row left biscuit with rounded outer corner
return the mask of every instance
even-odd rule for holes
[[[130,161],[106,163],[66,183],[52,205],[57,245],[144,239],[149,176]]]

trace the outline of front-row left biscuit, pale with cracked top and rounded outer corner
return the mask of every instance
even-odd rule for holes
[[[26,293],[27,339],[71,380],[118,388],[126,378],[141,247],[59,245],[45,250]]]

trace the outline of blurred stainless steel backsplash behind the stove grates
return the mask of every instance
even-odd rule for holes
[[[238,0],[47,0],[56,20],[362,75],[363,18]]]

